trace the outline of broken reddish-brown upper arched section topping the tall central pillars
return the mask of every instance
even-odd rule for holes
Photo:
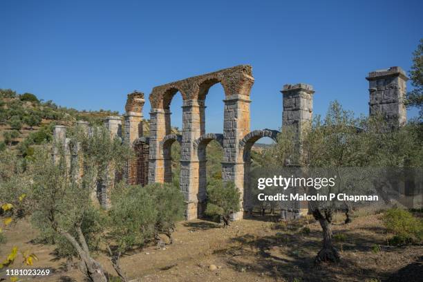
[[[213,73],[156,86],[149,96],[151,108],[169,109],[173,95],[177,92],[182,95],[182,100],[205,100],[209,88],[216,83],[222,84],[225,96],[250,96],[250,90],[254,83],[252,66],[240,65],[224,68]]]

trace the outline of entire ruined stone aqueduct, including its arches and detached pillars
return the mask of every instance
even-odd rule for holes
[[[406,111],[402,98],[406,93],[408,79],[400,67],[369,73],[369,113],[382,113],[393,124],[404,124]],[[205,131],[205,100],[209,89],[221,84],[225,92],[223,100],[223,133]],[[203,214],[206,200],[206,147],[216,140],[223,148],[222,179],[233,181],[241,191],[241,212],[234,219],[242,218],[243,212],[252,209],[247,189],[250,173],[250,151],[254,142],[263,137],[276,141],[278,131],[250,129],[250,92],[254,84],[252,67],[249,65],[225,68],[214,73],[189,77],[156,86],[149,95],[151,104],[149,136],[144,136],[144,94],[135,91],[128,95],[123,116],[106,118],[104,124],[112,135],[133,146],[136,160],[131,162],[124,178],[131,184],[146,185],[147,182],[171,182],[171,145],[180,143],[180,189],[185,196],[187,220]],[[171,131],[170,104],[176,93],[182,95],[182,131]],[[309,84],[286,84],[283,93],[282,126],[293,126],[297,134],[306,123],[312,121],[313,88]],[[123,132],[122,132],[123,131]],[[54,136],[66,144],[66,128],[56,126]],[[69,152],[69,155],[75,155]],[[97,198],[106,198],[113,176],[106,185],[100,185]],[[100,196],[101,197],[100,197]],[[100,202],[106,200],[100,200]],[[104,204],[104,203],[103,203]],[[299,213],[299,207],[294,209]]]

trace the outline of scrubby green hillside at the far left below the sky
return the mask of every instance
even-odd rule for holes
[[[0,150],[17,150],[22,156],[31,147],[50,141],[55,124],[71,125],[77,120],[101,124],[115,111],[77,111],[58,106],[53,101],[44,102],[31,93],[18,94],[10,89],[0,89]]]

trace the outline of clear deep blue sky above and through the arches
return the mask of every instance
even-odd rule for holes
[[[369,71],[401,66],[423,37],[423,1],[0,1],[0,88],[75,109],[124,111],[134,89],[251,64],[252,129],[279,129],[283,84],[312,84],[368,113]],[[411,85],[408,84],[410,87]],[[223,129],[223,88],[207,131]],[[171,104],[181,126],[181,98]],[[147,99],[144,116],[149,117]],[[411,111],[413,116],[417,111]]]

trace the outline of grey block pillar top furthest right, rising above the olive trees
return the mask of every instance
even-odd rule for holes
[[[399,66],[373,71],[366,77],[369,84],[369,114],[381,114],[393,128],[406,123],[407,112],[404,106],[408,77]]]

